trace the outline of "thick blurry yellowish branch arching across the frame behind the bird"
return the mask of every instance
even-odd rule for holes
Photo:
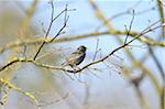
[[[61,43],[61,42],[68,42],[68,41],[75,41],[75,40],[81,40],[81,39],[89,39],[89,37],[95,37],[95,36],[100,36],[100,35],[105,35],[105,36],[109,36],[110,35],[127,35],[128,32],[127,31],[114,31],[114,32],[109,32],[109,31],[105,31],[105,32],[91,32],[91,33],[87,33],[87,34],[82,34],[82,35],[73,35],[73,36],[63,36],[59,39],[54,40],[52,43]],[[135,37],[136,35],[139,35],[140,33],[138,32],[130,32],[130,36],[131,37]],[[151,39],[152,36],[148,35],[144,35],[143,37],[138,39],[139,41],[146,43],[148,45],[152,46],[160,46],[160,47],[164,47],[165,46],[165,42],[157,42],[153,39]],[[26,45],[36,45],[36,44],[41,44],[42,42],[46,42],[45,44],[51,43],[52,39],[44,39],[41,36],[41,39],[30,39],[30,40],[25,40],[25,41],[15,41],[15,42],[11,42],[8,43],[3,46],[0,46],[0,53],[3,53],[4,51],[9,50],[9,48],[14,48],[14,47],[21,47],[24,46],[24,44]]]

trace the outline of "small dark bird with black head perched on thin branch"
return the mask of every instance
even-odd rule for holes
[[[63,66],[70,66],[75,68],[77,65],[79,65],[86,57],[86,50],[87,47],[84,45],[80,45],[77,47],[75,52],[73,52],[68,57],[66,57],[66,62],[63,63]]]

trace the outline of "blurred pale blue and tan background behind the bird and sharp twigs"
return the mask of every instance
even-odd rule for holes
[[[87,56],[78,67],[99,59],[123,44],[131,21],[131,32],[136,33],[141,33],[160,19],[163,23],[163,2],[54,0],[54,15],[68,4],[69,19],[65,33],[61,34],[56,42],[44,45],[38,54],[38,62],[61,66],[65,57],[79,45],[87,46]],[[41,45],[41,42],[35,41],[44,36],[43,29],[48,28],[51,10],[46,0],[0,1],[1,67],[15,57],[34,56]],[[64,14],[53,23],[48,39],[53,37],[63,24]],[[164,29],[160,28],[146,35],[148,37],[134,41],[103,63],[92,65],[78,74],[47,69],[32,63],[16,63],[2,70],[0,78],[34,95],[42,109],[163,109],[161,102],[164,98],[162,73],[165,65],[165,44],[160,43],[165,41]],[[128,40],[132,37],[133,35]],[[34,43],[28,43],[33,41]],[[19,42],[22,44],[16,45]],[[0,85],[1,99],[6,94],[4,87],[6,85]],[[4,109],[37,108],[30,97],[12,88],[9,90]]]

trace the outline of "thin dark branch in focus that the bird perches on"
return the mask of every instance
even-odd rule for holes
[[[64,67],[61,67],[61,66],[51,66],[51,65],[44,65],[44,64],[41,64],[41,63],[37,63],[36,61],[34,61],[33,58],[14,58],[13,61],[9,62],[8,64],[6,64],[4,66],[2,66],[0,68],[0,72],[2,72],[3,69],[10,67],[12,64],[14,63],[18,63],[18,62],[31,62],[31,63],[34,63],[35,65],[37,66],[41,66],[41,67],[45,67],[45,68],[53,68],[53,69],[59,69],[59,70],[64,70],[64,72],[68,72],[68,73],[79,73],[81,70],[84,70],[85,68],[91,66],[91,65],[95,65],[95,64],[98,64],[100,62],[103,62],[105,59],[107,59],[108,57],[110,57],[111,55],[113,55],[116,52],[118,52],[119,50],[122,50],[124,48],[125,46],[128,46],[130,43],[132,43],[133,41],[140,39],[141,36],[143,36],[144,34],[148,33],[148,32],[152,32],[153,30],[156,30],[161,26],[164,26],[164,25],[157,25],[155,28],[152,28],[153,25],[157,24],[161,20],[154,22],[153,24],[151,24],[150,26],[147,26],[146,29],[144,29],[141,34],[136,35],[134,39],[132,39],[131,41],[129,41],[128,43],[117,47],[116,50],[113,50],[112,52],[110,52],[108,55],[106,55],[105,57],[100,58],[100,59],[97,59],[95,62],[91,62],[87,65],[85,65],[84,67],[77,69],[77,70],[70,70],[70,69],[66,69]]]

